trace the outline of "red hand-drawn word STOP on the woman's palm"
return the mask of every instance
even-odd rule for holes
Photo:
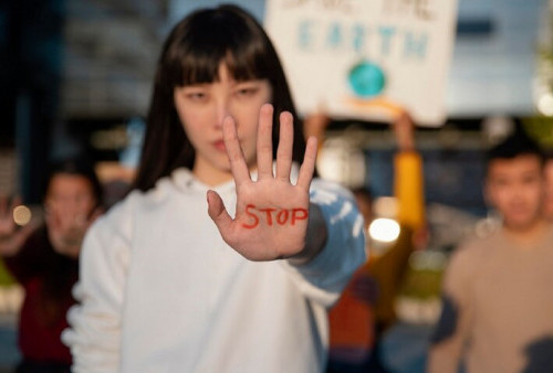
[[[250,217],[248,223],[242,223],[247,230],[253,230],[260,223],[265,225],[295,225],[298,221],[304,221],[309,217],[306,209],[258,209],[253,204],[246,206],[246,214]]]

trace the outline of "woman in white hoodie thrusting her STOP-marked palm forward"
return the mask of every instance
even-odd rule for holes
[[[363,220],[348,192],[312,180],[316,140],[294,114],[250,14],[222,6],[175,26],[135,191],[85,239],[63,335],[75,372],[323,370]]]

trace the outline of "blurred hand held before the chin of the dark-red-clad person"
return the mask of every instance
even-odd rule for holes
[[[48,235],[54,251],[76,258],[81,253],[84,234],[102,212],[96,209],[92,214],[85,215],[71,203],[46,204]]]

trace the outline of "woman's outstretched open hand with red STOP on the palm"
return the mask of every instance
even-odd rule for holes
[[[280,115],[280,141],[273,174],[272,105],[259,115],[258,180],[252,181],[237,135],[234,120],[223,120],[223,140],[237,189],[234,219],[221,198],[209,191],[208,213],[232,248],[250,260],[273,260],[301,254],[305,247],[310,199],[309,188],[315,168],[317,141],[310,138],[298,183],[290,181],[292,169],[293,117]]]

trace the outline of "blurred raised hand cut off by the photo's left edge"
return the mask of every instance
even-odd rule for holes
[[[15,255],[23,246],[27,238],[36,228],[38,223],[32,221],[19,228],[13,221],[13,209],[21,204],[20,198],[12,199],[0,196],[0,255]]]

